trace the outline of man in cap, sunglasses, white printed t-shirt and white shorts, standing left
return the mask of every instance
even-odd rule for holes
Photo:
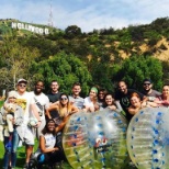
[[[26,151],[26,159],[24,169],[29,168],[29,161],[31,154],[33,153],[33,146],[34,146],[34,136],[32,133],[32,129],[29,127],[29,120],[31,116],[34,116],[37,119],[37,127],[41,125],[41,117],[38,115],[35,102],[33,101],[32,95],[26,91],[26,84],[27,81],[25,79],[19,79],[16,84],[16,93],[18,99],[16,103],[22,106],[24,110],[24,116],[23,116],[23,124],[22,124],[22,134],[23,134],[23,140],[25,143],[25,151]]]

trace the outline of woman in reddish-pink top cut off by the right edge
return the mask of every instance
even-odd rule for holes
[[[169,106],[169,86],[165,84],[162,87],[162,94],[154,100],[158,106]]]

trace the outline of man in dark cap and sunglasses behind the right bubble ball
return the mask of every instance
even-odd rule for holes
[[[157,97],[161,95],[159,91],[153,89],[153,86],[150,79],[145,79],[143,81],[143,94],[147,97],[148,101],[154,101]]]

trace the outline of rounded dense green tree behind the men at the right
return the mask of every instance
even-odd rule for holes
[[[132,56],[125,59],[117,74],[113,76],[113,81],[125,80],[129,87],[143,89],[143,80],[150,78],[156,89],[162,86],[162,65],[150,56]]]

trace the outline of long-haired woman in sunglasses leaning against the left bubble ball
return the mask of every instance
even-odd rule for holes
[[[59,117],[54,119],[57,126],[59,126],[59,128],[56,127],[56,132],[58,132],[58,129],[61,131],[69,116],[79,111],[77,106],[70,104],[69,98],[66,93],[61,93],[59,97],[59,101],[46,110],[46,115],[48,119],[52,119],[49,112],[53,110],[57,111],[59,114]]]

